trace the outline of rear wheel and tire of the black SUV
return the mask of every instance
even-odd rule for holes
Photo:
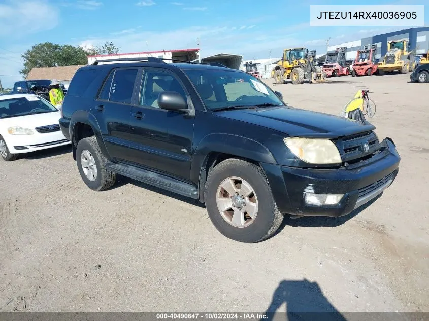
[[[104,157],[95,137],[83,138],[76,148],[76,162],[83,182],[91,190],[103,191],[116,182],[116,173],[106,169]]]

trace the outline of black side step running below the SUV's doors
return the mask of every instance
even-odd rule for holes
[[[198,198],[198,189],[196,187],[162,174],[122,163],[107,163],[106,168],[136,181],[156,186],[186,197]]]

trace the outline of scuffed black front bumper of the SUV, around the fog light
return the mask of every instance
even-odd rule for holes
[[[395,180],[400,156],[392,141],[384,139],[382,152],[338,169],[314,169],[262,164],[274,199],[283,213],[300,216],[340,217],[381,194]],[[309,205],[306,193],[344,194],[336,205]]]

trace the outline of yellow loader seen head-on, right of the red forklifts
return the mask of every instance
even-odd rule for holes
[[[408,40],[390,40],[387,42],[387,53],[378,63],[379,74],[412,72],[415,67],[414,56],[409,50]]]

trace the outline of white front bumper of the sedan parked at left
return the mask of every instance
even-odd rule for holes
[[[35,133],[32,135],[5,135],[8,149],[12,154],[30,153],[57,146],[71,144],[71,141],[64,137],[62,132],[55,131],[50,133]]]

